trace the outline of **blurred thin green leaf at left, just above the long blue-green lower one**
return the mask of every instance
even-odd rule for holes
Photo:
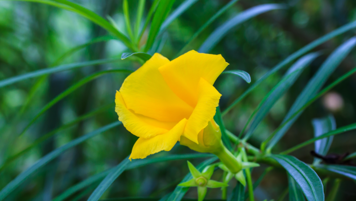
[[[9,163],[11,163],[12,161],[16,160],[17,158],[19,158],[20,156],[22,156],[23,154],[27,153],[28,151],[30,151],[33,147],[36,147],[37,145],[39,145],[40,143],[42,143],[43,141],[47,140],[48,138],[50,138],[51,136],[53,136],[54,134],[58,133],[61,130],[67,129],[81,121],[83,121],[84,119],[87,119],[89,117],[92,117],[100,112],[103,112],[105,110],[108,110],[109,108],[115,107],[115,103],[113,104],[108,104],[105,105],[103,107],[100,107],[92,112],[89,112],[83,116],[80,116],[78,118],[76,118],[75,120],[73,120],[72,122],[69,122],[67,124],[62,125],[61,127],[52,130],[51,132],[42,135],[40,138],[36,139],[35,141],[33,141],[30,145],[27,146],[26,149],[23,149],[22,151],[16,153],[15,155],[10,156],[9,158],[7,158],[5,160],[5,162],[0,166],[0,172],[2,171],[2,169],[4,169],[7,165],[9,165]]]

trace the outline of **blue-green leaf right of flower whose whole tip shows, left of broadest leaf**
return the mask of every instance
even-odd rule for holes
[[[247,140],[251,137],[252,133],[255,131],[258,124],[260,124],[261,121],[267,116],[269,110],[271,110],[273,105],[276,104],[278,99],[280,99],[284,94],[286,94],[287,90],[295,83],[295,81],[299,78],[303,70],[307,66],[309,66],[310,63],[314,61],[314,59],[319,55],[320,55],[319,53],[310,53],[308,55],[305,55],[302,58],[300,58],[298,61],[296,61],[288,69],[286,74],[284,74],[282,80],[276,86],[274,86],[274,88],[271,91],[269,91],[269,93],[265,97],[263,97],[263,100],[260,102],[260,104],[258,104],[255,111],[253,111],[251,117],[248,119],[247,123],[245,124],[245,127],[241,130],[239,137],[242,136],[247,125],[250,123],[251,119],[256,114],[255,118],[251,123],[250,129],[248,129],[248,132],[244,137],[244,140]]]

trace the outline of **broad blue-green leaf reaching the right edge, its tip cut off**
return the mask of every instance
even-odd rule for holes
[[[298,96],[297,100],[294,101],[293,106],[290,108],[286,117],[284,117],[282,124],[287,122],[287,119],[289,119],[296,111],[303,107],[303,105],[305,105],[318,93],[321,87],[325,84],[326,80],[328,80],[330,75],[335,71],[336,67],[339,66],[341,61],[344,60],[355,45],[356,37],[352,37],[331,53],[331,55],[321,65],[318,72],[316,72],[313,78],[310,79],[307,86],[305,86],[303,91]],[[297,116],[295,116],[292,120],[289,120],[288,123],[273,136],[270,144],[268,145],[268,149],[272,149],[272,147],[277,144],[277,142],[284,136],[301,113],[302,112],[299,112]]]

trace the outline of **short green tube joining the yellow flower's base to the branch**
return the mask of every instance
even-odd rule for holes
[[[240,172],[242,169],[241,163],[239,163],[235,156],[228,149],[226,149],[223,142],[221,142],[221,148],[222,149],[219,149],[219,151],[214,154],[219,157],[220,161],[224,163],[232,173]]]

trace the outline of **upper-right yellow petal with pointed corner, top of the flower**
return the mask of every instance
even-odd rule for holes
[[[158,68],[168,86],[182,100],[195,107],[198,83],[204,78],[211,85],[229,63],[221,55],[198,53],[194,50]]]

